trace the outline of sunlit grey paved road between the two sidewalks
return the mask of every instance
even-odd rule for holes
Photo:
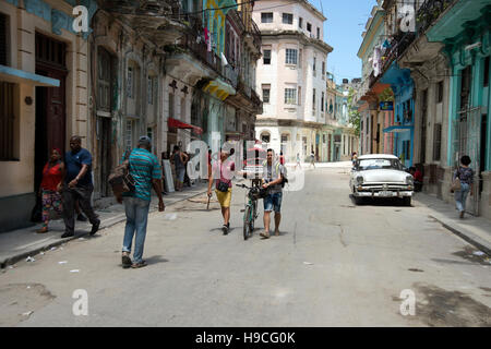
[[[491,326],[486,256],[418,203],[355,206],[347,171],[308,171],[270,240],[258,230],[243,241],[235,188],[226,237],[217,203],[152,214],[145,268],[120,267],[123,225],[17,263],[0,274],[0,325]],[[87,291],[87,316],[73,315],[75,289]],[[414,316],[399,311],[406,289]]]

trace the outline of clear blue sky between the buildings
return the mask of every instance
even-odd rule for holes
[[[324,41],[333,47],[327,56],[327,71],[334,73],[336,83],[343,79],[361,77],[361,60],[357,57],[361,33],[375,0],[309,0],[324,13]],[[322,5],[321,5],[322,3]]]

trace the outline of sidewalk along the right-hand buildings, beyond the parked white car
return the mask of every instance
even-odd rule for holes
[[[443,227],[491,255],[491,220],[468,214],[460,219],[454,204],[421,192],[415,193],[414,201],[427,206],[431,212],[430,217],[440,221]]]

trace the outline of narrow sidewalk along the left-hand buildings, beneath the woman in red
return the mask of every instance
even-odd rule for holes
[[[207,183],[199,182],[192,188],[185,186],[182,192],[173,192],[164,195],[164,203],[167,207],[177,202],[200,195],[206,190]],[[157,196],[153,196],[149,212],[152,213],[157,209],[158,200]],[[96,209],[96,213],[99,215],[100,219],[99,229],[109,228],[125,220],[123,205],[111,205],[104,209]],[[49,250],[70,240],[88,236],[91,227],[89,222],[75,221],[75,236],[67,239],[60,238],[64,232],[62,219],[51,220],[47,233],[36,233],[36,230],[40,228],[40,224],[24,229],[2,232],[0,233],[0,268],[4,268],[20,260],[26,258],[27,256],[34,256],[41,251]]]

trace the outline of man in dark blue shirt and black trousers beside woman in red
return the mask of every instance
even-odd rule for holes
[[[99,229],[100,220],[91,205],[91,196],[94,191],[92,183],[92,155],[82,147],[82,140],[74,135],[70,139],[70,152],[64,155],[65,173],[61,189],[63,202],[63,219],[65,231],[61,238],[74,236],[75,229],[75,201],[88,217],[92,224],[91,236]]]

